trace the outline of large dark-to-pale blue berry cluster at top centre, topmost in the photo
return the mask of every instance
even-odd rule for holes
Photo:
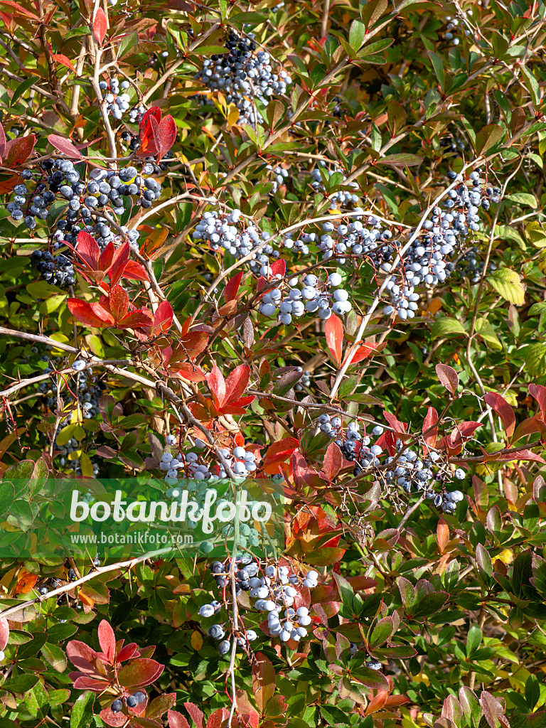
[[[260,99],[267,106],[273,96],[284,94],[292,82],[286,71],[273,73],[269,53],[256,51],[253,33],[250,40],[243,40],[234,31],[229,32],[226,48],[221,53],[206,58],[195,78],[211,91],[221,91],[226,103],[234,103],[240,119],[256,124],[254,100]]]

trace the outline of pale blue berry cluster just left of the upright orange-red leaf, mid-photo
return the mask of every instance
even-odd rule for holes
[[[275,282],[281,282],[280,274],[273,274],[269,266],[263,266],[261,276]],[[333,272],[328,275],[325,282],[321,282],[314,274],[307,274],[303,286],[298,288],[300,280],[293,277],[287,281],[288,293],[283,295],[280,288],[272,288],[264,293],[261,299],[259,312],[263,316],[277,315],[277,320],[283,325],[292,323],[292,317],[301,317],[304,314],[314,314],[322,320],[332,314],[341,316],[352,309],[349,293],[340,288],[341,275]],[[335,289],[335,290],[334,290]]]

